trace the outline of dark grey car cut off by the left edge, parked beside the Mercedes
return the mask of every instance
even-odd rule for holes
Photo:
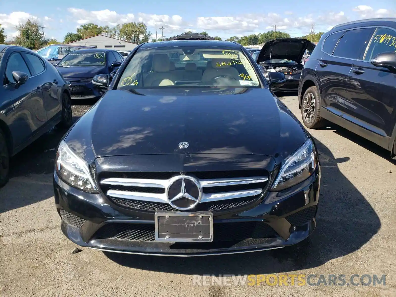
[[[56,124],[69,127],[70,94],[61,74],[27,48],[0,44],[0,187],[10,157]]]

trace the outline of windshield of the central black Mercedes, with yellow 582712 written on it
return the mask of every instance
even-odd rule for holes
[[[260,83],[242,51],[175,46],[138,49],[122,73],[117,89],[185,86],[259,88]]]

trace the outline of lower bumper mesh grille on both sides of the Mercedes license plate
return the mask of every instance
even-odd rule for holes
[[[263,222],[215,223],[213,241],[236,241],[248,238],[269,238],[276,235],[274,229]],[[155,241],[154,224],[109,223],[100,228],[96,238],[118,240]]]

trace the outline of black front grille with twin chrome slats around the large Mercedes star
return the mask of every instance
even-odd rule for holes
[[[120,206],[147,211],[171,211],[177,209],[169,203],[167,189],[172,178],[178,175],[192,177],[202,191],[200,203],[194,210],[216,211],[244,206],[261,196],[268,183],[267,171],[263,170],[195,172],[185,175],[107,172],[99,179],[101,190]]]

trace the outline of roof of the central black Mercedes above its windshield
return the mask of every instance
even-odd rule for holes
[[[139,48],[165,48],[172,46],[206,46],[206,47],[227,47],[227,48],[241,48],[240,44],[233,41],[224,40],[166,40],[156,42],[146,42]]]

